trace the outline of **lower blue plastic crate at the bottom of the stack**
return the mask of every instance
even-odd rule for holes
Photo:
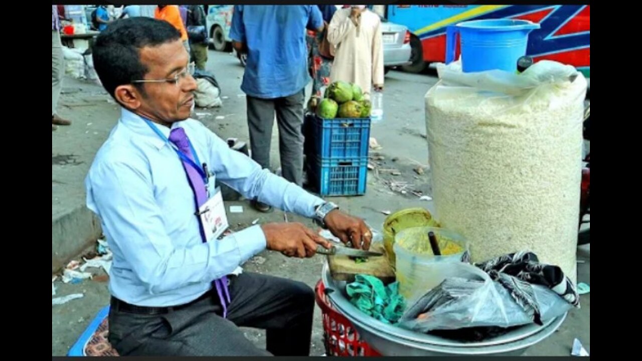
[[[368,157],[310,160],[311,180],[320,195],[345,196],[365,194]]]

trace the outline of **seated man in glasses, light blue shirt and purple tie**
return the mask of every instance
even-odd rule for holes
[[[121,118],[85,180],[87,207],[114,254],[109,341],[120,355],[308,355],[313,290],[243,272],[271,249],[311,257],[329,242],[302,224],[261,224],[221,239],[211,220],[216,179],[246,198],[315,218],[345,243],[369,248],[359,218],[277,177],[189,119],[193,64],[171,24],[121,19],[98,35],[94,67]],[[221,200],[222,201],[222,200]],[[213,208],[210,209],[210,206]],[[267,351],[238,326],[267,330]]]

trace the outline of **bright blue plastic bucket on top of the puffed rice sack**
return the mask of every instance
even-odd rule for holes
[[[528,33],[539,24],[527,20],[464,21],[446,30],[446,64],[455,60],[457,34],[464,73],[500,69],[517,71],[517,59],[526,55]]]

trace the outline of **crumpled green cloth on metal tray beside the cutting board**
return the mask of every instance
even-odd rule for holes
[[[358,274],[354,282],[345,286],[350,302],[361,312],[375,319],[394,324],[403,314],[406,302],[399,294],[399,283],[387,287],[381,279],[367,274]]]

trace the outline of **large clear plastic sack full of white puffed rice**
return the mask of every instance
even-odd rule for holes
[[[586,79],[537,62],[521,75],[438,66],[426,94],[437,220],[473,261],[528,250],[577,280]]]

